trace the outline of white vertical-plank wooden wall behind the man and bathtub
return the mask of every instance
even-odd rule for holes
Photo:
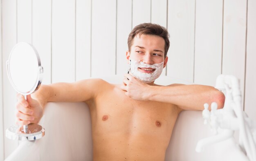
[[[211,86],[221,73],[235,75],[256,120],[256,0],[2,0],[1,7],[0,161],[18,145],[4,137],[16,104],[5,62],[22,41],[38,50],[43,84],[74,82],[123,75],[132,28],[161,24],[171,35],[163,75]]]

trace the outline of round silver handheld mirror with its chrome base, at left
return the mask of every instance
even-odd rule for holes
[[[20,42],[13,47],[7,60],[7,74],[13,88],[25,98],[39,88],[43,67],[34,46]],[[12,140],[31,141],[44,135],[45,129],[38,124],[13,125],[6,130],[6,137]]]

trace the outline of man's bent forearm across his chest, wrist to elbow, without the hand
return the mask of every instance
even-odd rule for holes
[[[204,103],[216,102],[223,108],[225,95],[212,86],[171,84],[169,86],[148,86],[148,98],[177,105],[183,110],[203,110]]]

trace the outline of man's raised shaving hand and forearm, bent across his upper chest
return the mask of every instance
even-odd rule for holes
[[[135,77],[124,78],[123,90],[132,99],[140,101],[160,101],[177,105],[183,110],[203,110],[204,103],[212,102],[223,108],[225,95],[212,86],[171,84],[150,86]]]

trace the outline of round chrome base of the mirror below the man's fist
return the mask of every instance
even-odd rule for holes
[[[5,135],[11,140],[33,141],[45,136],[45,129],[38,124],[29,124],[24,132],[23,126],[13,125],[6,129]]]

